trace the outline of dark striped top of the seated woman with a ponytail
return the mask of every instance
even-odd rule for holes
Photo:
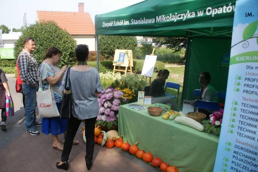
[[[152,97],[162,97],[165,96],[164,91],[165,81],[160,83],[156,78],[151,82],[150,94]]]

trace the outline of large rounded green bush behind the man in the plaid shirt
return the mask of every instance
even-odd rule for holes
[[[40,64],[46,57],[45,53],[48,47],[57,47],[63,54],[58,63],[58,67],[64,65],[73,65],[75,63],[74,52],[76,41],[65,30],[60,28],[54,21],[43,21],[31,24],[15,42],[14,56],[17,58],[24,47],[26,37],[32,37],[35,40],[36,48],[33,51],[34,57]]]

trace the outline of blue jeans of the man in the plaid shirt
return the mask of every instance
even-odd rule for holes
[[[22,83],[22,91],[25,94],[26,99],[26,117],[25,117],[25,125],[28,130],[33,130],[35,128],[34,121],[36,117],[34,116],[35,108],[37,106],[37,91],[38,91],[38,83],[35,88],[32,88],[30,85],[26,83]]]

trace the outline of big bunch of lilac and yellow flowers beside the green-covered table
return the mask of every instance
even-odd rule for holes
[[[98,95],[99,113],[96,125],[107,127],[109,130],[118,125],[119,106],[135,96],[130,89],[108,87]]]

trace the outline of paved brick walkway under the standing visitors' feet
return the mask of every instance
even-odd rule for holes
[[[40,135],[32,136],[26,133],[24,108],[21,93],[15,92],[13,74],[7,74],[8,84],[15,106],[15,116],[8,117],[7,131],[0,130],[0,171],[1,172],[52,172],[64,171],[57,169],[55,163],[61,159],[61,151],[52,147],[51,135],[41,133],[41,126],[36,127]],[[41,119],[38,119],[41,121]],[[82,126],[82,124],[81,124]],[[61,142],[63,135],[59,136]],[[81,137],[80,128],[75,139],[79,140],[74,145],[69,157],[68,171],[87,171],[85,165],[85,143]],[[121,149],[95,144],[92,172],[160,172],[150,164],[132,156]]]

